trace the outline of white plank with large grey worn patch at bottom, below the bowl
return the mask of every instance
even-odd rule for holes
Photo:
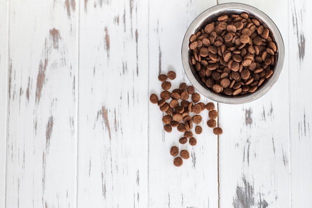
[[[230,1],[219,0],[224,2]],[[276,22],[287,60],[288,4],[283,0],[236,2],[255,6]],[[219,104],[224,132],[219,138],[221,208],[291,206],[288,89],[286,61],[278,82],[263,97],[243,105]]]

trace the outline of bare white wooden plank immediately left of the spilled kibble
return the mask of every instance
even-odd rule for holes
[[[78,208],[147,207],[148,9],[81,4]]]

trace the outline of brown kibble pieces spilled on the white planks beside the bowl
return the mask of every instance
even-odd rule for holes
[[[169,71],[167,74],[160,74],[158,76],[161,81],[161,88],[163,91],[160,93],[160,99],[153,93],[150,96],[150,101],[159,106],[161,112],[164,112],[162,122],[163,128],[166,132],[170,133],[172,128],[176,128],[177,131],[183,133],[179,138],[180,144],[188,143],[191,146],[197,144],[196,135],[202,133],[202,127],[199,125],[202,121],[201,112],[208,110],[209,120],[207,126],[213,128],[215,135],[222,134],[222,129],[217,126],[216,118],[218,112],[215,110],[215,106],[212,102],[207,104],[200,102],[200,94],[195,92],[193,86],[187,86],[186,83],[181,83],[179,88],[169,91],[171,88],[171,82],[169,80],[175,79],[176,74],[173,71]],[[193,134],[193,130],[195,134]],[[179,150],[178,147],[172,146],[170,154],[174,157],[173,164],[180,167],[183,164],[183,159],[189,158],[187,150]]]

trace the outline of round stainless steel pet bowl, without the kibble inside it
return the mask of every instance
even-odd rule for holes
[[[220,15],[240,14],[242,12],[246,12],[249,14],[250,17],[258,19],[265,28],[268,28],[270,30],[272,39],[276,42],[278,48],[277,61],[273,70],[274,73],[262,84],[261,87],[259,87],[253,93],[241,96],[221,95],[210,90],[205,85],[205,83],[201,81],[201,78],[198,76],[194,66],[190,64],[191,50],[189,49],[189,38],[192,34],[201,30],[206,24],[210,23],[211,21],[215,21]],[[251,102],[267,93],[280,76],[284,63],[284,55],[285,49],[283,38],[272,19],[259,9],[242,3],[224,3],[208,8],[207,10],[199,14],[189,25],[188,29],[185,32],[182,43],[182,64],[184,71],[192,85],[207,98],[217,102],[228,104],[241,104]]]

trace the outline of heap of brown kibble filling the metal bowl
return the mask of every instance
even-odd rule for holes
[[[221,15],[189,41],[190,64],[215,93],[253,93],[274,72],[277,44],[270,30],[247,13]]]

